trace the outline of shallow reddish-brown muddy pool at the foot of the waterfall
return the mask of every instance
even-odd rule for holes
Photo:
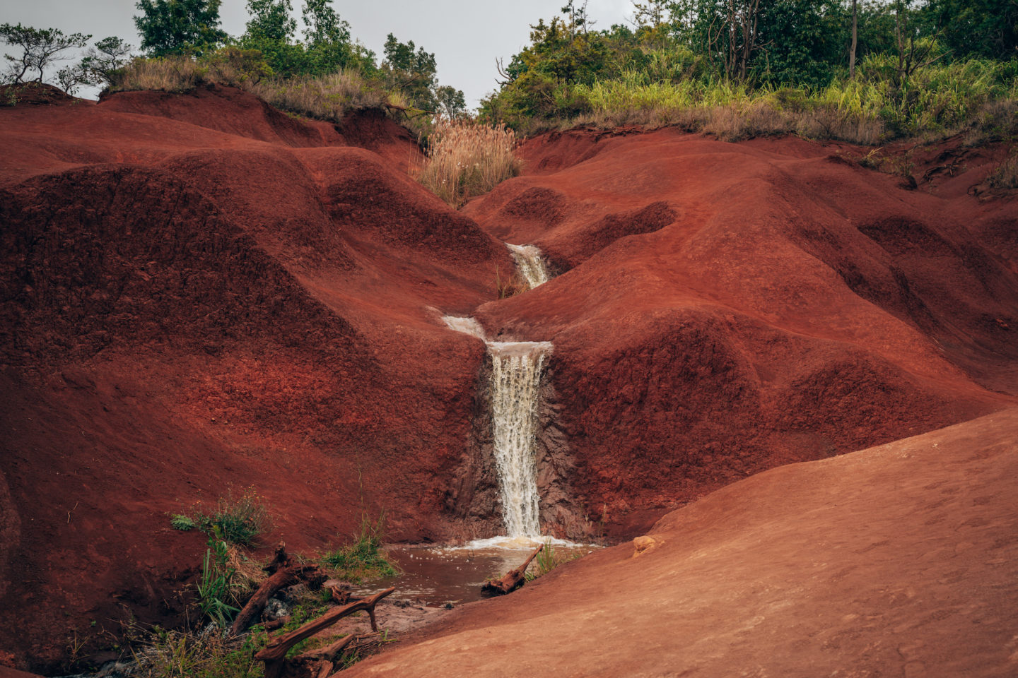
[[[458,604],[480,600],[485,579],[500,577],[519,567],[540,542],[492,546],[492,541],[462,547],[388,546],[386,555],[402,573],[364,582],[363,592],[395,587],[392,598],[427,605]],[[561,559],[581,557],[597,547],[564,543],[553,546]],[[531,563],[531,569],[535,563]],[[355,590],[356,593],[356,590]]]

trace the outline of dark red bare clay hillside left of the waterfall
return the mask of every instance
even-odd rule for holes
[[[166,514],[231,487],[295,551],[361,507],[393,539],[462,531],[445,470],[483,349],[439,318],[511,259],[350,139],[417,152],[222,88],[0,111],[0,649],[22,667],[172,623],[204,540]]]

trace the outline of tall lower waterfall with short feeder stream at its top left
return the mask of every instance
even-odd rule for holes
[[[443,318],[450,329],[484,340],[473,318]],[[485,342],[492,357],[492,437],[506,535],[540,537],[534,441],[541,404],[541,372],[551,342]]]

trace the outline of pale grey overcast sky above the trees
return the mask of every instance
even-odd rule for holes
[[[386,36],[434,52],[439,81],[462,89],[467,106],[496,87],[495,59],[509,58],[529,41],[529,24],[557,14],[567,0],[333,0],[350,33],[380,57]],[[243,33],[246,0],[223,0],[223,29]],[[293,0],[300,16],[303,0]],[[589,0],[588,14],[598,28],[621,23],[632,15],[630,0]],[[23,23],[37,28],[92,34],[94,40],[118,36],[137,47],[131,17],[134,0],[0,0],[0,23]],[[6,48],[6,46],[4,46]],[[5,50],[8,51],[9,50]],[[81,95],[79,95],[81,96]]]

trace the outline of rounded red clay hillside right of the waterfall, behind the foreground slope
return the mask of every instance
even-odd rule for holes
[[[837,150],[555,133],[524,145],[525,176],[465,208],[563,273],[477,315],[554,342],[592,519],[660,515],[761,469],[1014,403],[1014,198],[907,190]],[[993,167],[968,162],[956,183]]]

